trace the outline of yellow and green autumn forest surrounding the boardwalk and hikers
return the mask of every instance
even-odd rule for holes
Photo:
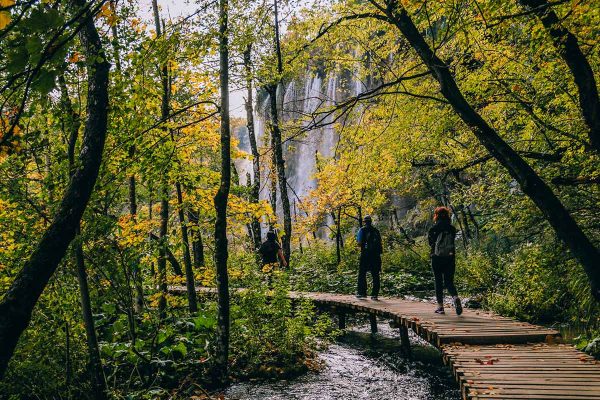
[[[356,294],[370,215],[433,312],[439,206],[465,308],[600,357],[599,37],[596,0],[0,0],[0,399],[319,398],[250,393],[354,349],[290,294]]]

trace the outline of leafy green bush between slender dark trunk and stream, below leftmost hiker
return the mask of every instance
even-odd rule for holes
[[[314,358],[317,338],[332,333],[329,318],[317,317],[312,302],[293,304],[289,299],[286,275],[275,272],[270,285],[255,279],[234,299],[232,365],[239,378],[284,378],[304,372]]]

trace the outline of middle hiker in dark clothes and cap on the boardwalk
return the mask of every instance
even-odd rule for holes
[[[383,253],[383,245],[381,243],[381,234],[373,226],[373,219],[370,215],[365,216],[364,223],[365,226],[360,228],[356,234],[356,241],[360,246],[356,297],[359,299],[367,297],[367,271],[371,271],[371,276],[373,277],[371,299],[377,300],[381,282],[381,254]]]

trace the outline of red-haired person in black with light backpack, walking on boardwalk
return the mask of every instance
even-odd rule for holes
[[[456,254],[454,240],[456,228],[450,222],[450,210],[438,207],[433,214],[435,224],[429,229],[427,238],[431,247],[431,269],[435,278],[435,297],[438,307],[437,314],[444,314],[444,285],[452,296],[456,314],[462,314],[462,304],[454,286],[454,271],[456,269]]]

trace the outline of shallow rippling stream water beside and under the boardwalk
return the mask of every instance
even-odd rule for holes
[[[459,400],[458,386],[440,353],[411,337],[411,360],[400,353],[397,329],[384,321],[372,337],[369,325],[352,328],[319,354],[324,368],[291,381],[247,382],[230,387],[227,399]]]

